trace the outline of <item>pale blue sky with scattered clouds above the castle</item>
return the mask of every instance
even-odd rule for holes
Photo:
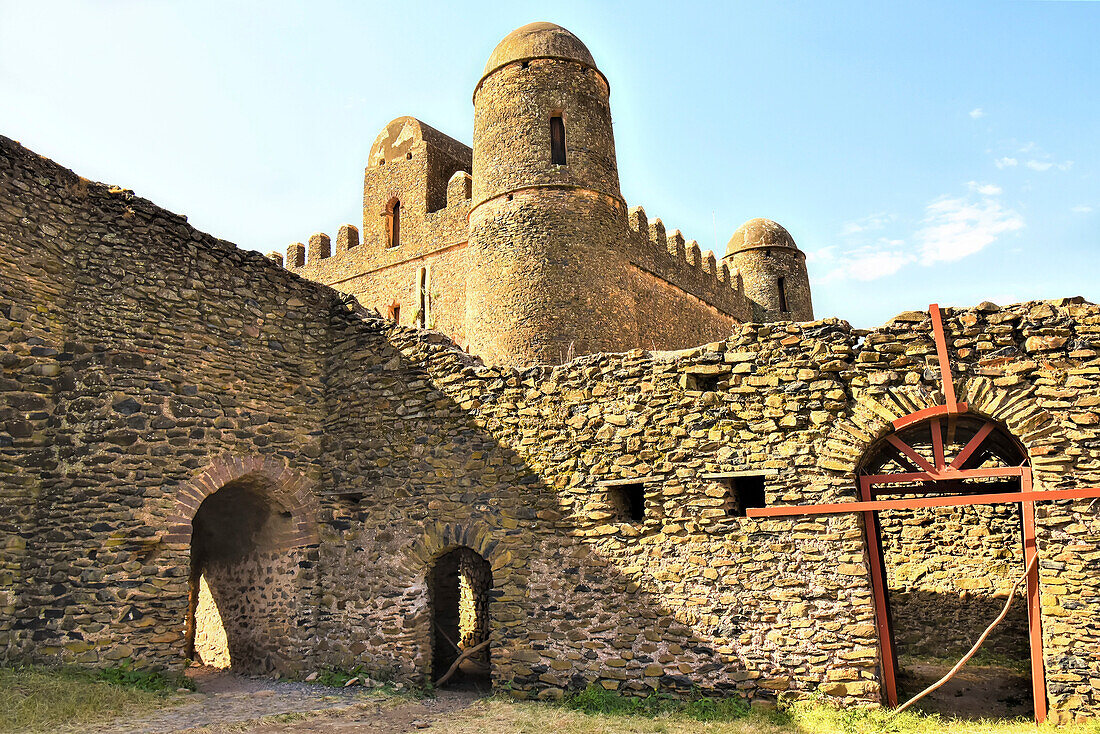
[[[818,316],[1100,299],[1100,3],[0,0],[0,134],[284,250],[360,223],[391,119],[469,143],[535,20],[608,77],[627,201],[719,256],[779,221]]]

